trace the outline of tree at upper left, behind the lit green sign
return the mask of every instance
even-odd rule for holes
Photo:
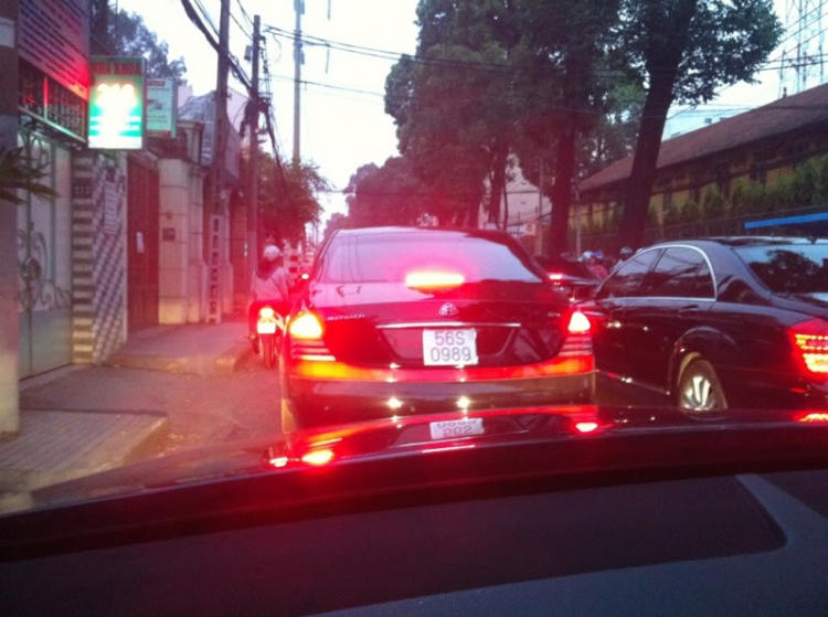
[[[187,83],[183,57],[170,61],[169,45],[147,29],[144,18],[125,10],[114,10],[107,0],[93,0],[91,11],[92,47],[96,54],[141,56],[147,76]]]

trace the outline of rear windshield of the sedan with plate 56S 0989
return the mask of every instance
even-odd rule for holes
[[[544,280],[511,238],[463,234],[340,236],[331,241],[319,266],[323,283],[402,283],[406,275],[426,270],[460,274],[466,283]]]

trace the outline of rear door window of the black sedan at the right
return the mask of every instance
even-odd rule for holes
[[[660,298],[712,297],[710,268],[702,254],[693,248],[668,248],[647,275],[641,295]]]

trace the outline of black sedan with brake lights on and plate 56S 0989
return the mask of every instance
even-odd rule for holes
[[[285,430],[594,398],[588,320],[502,232],[337,231],[287,330]]]

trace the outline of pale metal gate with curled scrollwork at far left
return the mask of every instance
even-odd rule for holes
[[[25,193],[18,206],[18,311],[20,376],[72,361],[71,152],[36,132],[21,129],[20,145],[57,196]]]

